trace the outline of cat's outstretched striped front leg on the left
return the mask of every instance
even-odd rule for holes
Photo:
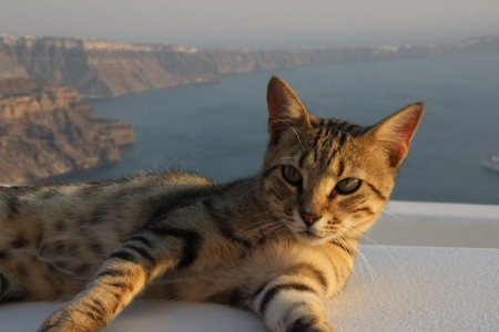
[[[147,228],[114,250],[90,286],[54,312],[39,332],[102,330],[154,277],[194,262],[202,237],[194,231]]]

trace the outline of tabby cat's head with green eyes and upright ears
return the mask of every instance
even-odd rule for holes
[[[310,115],[272,77],[263,177],[275,215],[309,245],[357,239],[381,214],[422,116],[411,104],[374,126]]]

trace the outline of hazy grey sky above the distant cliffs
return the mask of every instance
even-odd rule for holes
[[[345,46],[499,33],[499,0],[0,0],[0,33],[192,46]]]

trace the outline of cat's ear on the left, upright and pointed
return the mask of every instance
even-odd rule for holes
[[[310,115],[294,91],[273,76],[267,85],[268,133],[277,142],[285,131],[310,128]]]

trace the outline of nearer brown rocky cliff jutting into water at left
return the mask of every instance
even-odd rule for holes
[[[134,142],[129,123],[95,118],[71,86],[0,81],[0,183],[26,183],[121,158]]]

